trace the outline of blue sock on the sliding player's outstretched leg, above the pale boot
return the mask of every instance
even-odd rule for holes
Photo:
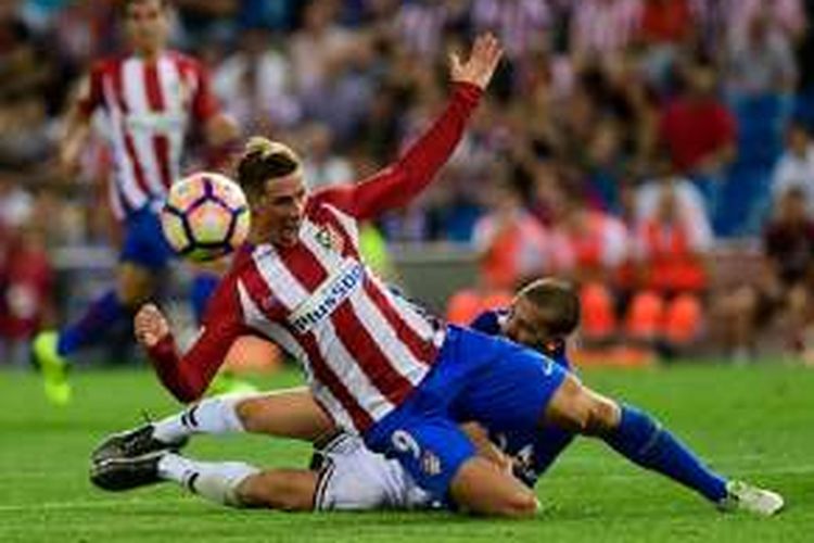
[[[631,462],[689,487],[708,500],[726,496],[726,480],[710,470],[684,443],[635,407],[622,406],[619,428],[606,443]]]

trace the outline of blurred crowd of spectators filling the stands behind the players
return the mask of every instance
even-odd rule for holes
[[[621,336],[682,353],[714,333],[746,358],[780,315],[780,346],[805,352],[814,1],[173,3],[174,47],[207,63],[244,135],[303,153],[313,187],[393,160],[444,105],[447,52],[498,35],[506,62],[443,179],[376,225],[390,241],[479,252],[480,281],[453,300],[453,318],[554,273],[581,285],[597,344]],[[0,2],[7,337],[53,313],[43,248],[115,243],[100,212],[105,149],[87,149],[79,179],[54,149],[80,74],[120,48],[117,26],[115,1]],[[762,237],[765,256],[718,286],[716,240],[743,237]]]

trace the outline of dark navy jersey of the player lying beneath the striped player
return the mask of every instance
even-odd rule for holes
[[[470,328],[489,336],[503,334],[503,323],[508,311],[486,311],[479,315]],[[542,350],[557,365],[571,370],[565,355],[565,342],[551,341]],[[487,428],[489,439],[501,451],[514,458],[514,475],[529,487],[534,487],[537,479],[554,464],[560,453],[573,441],[574,434],[560,428],[544,428],[538,431],[500,428]]]

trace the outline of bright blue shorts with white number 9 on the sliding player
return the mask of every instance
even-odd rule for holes
[[[568,371],[503,338],[448,326],[435,366],[398,408],[365,432],[437,500],[476,453],[459,422],[534,432]]]

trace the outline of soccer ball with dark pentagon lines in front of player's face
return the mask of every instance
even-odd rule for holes
[[[173,185],[161,212],[164,237],[176,253],[198,262],[219,258],[249,235],[249,205],[228,177],[200,172]]]

